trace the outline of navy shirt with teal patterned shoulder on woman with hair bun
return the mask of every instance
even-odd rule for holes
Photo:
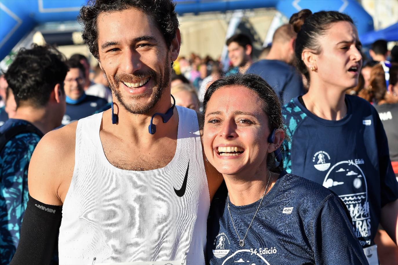
[[[283,107],[291,143],[284,141],[287,172],[334,191],[351,214],[355,234],[365,248],[374,244],[380,209],[398,198],[386,133],[375,108],[346,95],[347,114],[324,120],[298,97]]]

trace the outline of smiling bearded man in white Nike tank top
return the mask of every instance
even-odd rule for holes
[[[204,264],[209,203],[222,178],[203,161],[196,112],[170,103],[181,42],[174,4],[97,0],[80,20],[113,110],[37,146],[11,264],[48,264],[58,234],[60,264]]]

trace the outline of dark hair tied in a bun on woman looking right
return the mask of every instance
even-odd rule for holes
[[[349,15],[337,11],[320,11],[312,14],[311,10],[303,9],[291,16],[289,23],[293,25],[293,29],[297,32],[295,44],[296,66],[308,81],[310,81],[310,75],[307,66],[301,60],[302,51],[308,48],[316,54],[320,54],[319,37],[325,34],[331,23],[338,21],[347,21],[354,24]]]

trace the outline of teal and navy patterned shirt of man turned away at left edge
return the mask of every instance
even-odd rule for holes
[[[40,137],[23,133],[6,143],[0,153],[0,264],[8,264],[20,240],[28,188],[27,170]]]

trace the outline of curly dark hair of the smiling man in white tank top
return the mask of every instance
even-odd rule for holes
[[[135,8],[151,17],[164,36],[168,47],[178,29],[176,4],[172,0],[90,0],[80,9],[78,21],[83,26],[82,37],[90,52],[99,60],[97,18],[103,12],[117,12]]]

